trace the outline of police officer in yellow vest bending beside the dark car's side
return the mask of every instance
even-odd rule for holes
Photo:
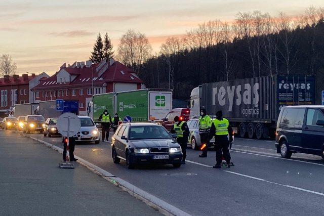
[[[188,137],[189,137],[189,128],[187,125],[187,122],[183,121],[182,118],[179,118],[179,116],[174,117],[174,125],[173,129],[171,129],[171,133],[177,135],[177,142],[181,146],[182,149],[182,164],[185,164],[186,162],[186,156],[187,156],[187,144],[188,144]]]

